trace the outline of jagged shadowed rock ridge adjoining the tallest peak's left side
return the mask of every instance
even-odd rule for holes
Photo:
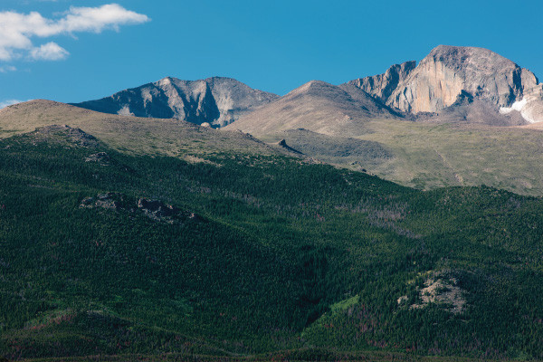
[[[367,94],[372,95],[377,100],[386,103],[386,100],[388,100],[392,92],[397,88],[398,84],[405,81],[415,67],[416,62],[414,61],[394,64],[388,68],[384,74],[359,78],[354,81],[349,81],[348,84],[354,85],[367,92]]]

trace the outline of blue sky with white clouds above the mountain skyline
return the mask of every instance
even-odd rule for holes
[[[98,99],[166,76],[227,76],[282,95],[418,62],[442,43],[491,49],[543,78],[542,0],[450,4],[2,0],[0,105]]]

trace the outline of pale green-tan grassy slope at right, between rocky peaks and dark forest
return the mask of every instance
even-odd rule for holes
[[[284,138],[308,156],[341,167],[367,168],[377,176],[418,189],[488,185],[523,195],[543,195],[540,129],[397,119],[371,120],[366,128],[363,135],[346,133],[344,138],[300,130],[255,136],[269,142]],[[353,138],[376,146],[367,143],[367,151],[357,154]],[[355,145],[338,155],[338,149],[352,143]],[[380,154],[383,149],[390,157]]]

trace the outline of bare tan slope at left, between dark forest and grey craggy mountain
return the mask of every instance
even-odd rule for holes
[[[240,132],[221,132],[177,119],[148,119],[85,110],[52,100],[32,100],[0,110],[0,138],[37,127],[68,125],[103,139],[110,147],[146,155],[205,155],[240,151],[284,153]]]

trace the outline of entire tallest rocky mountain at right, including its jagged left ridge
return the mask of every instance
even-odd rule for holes
[[[465,114],[456,120],[512,125],[520,115],[523,123],[543,121],[543,85],[531,71],[496,52],[439,45],[413,66],[393,65],[385,74],[348,83],[415,115],[462,106]],[[491,106],[490,115],[479,111],[486,107],[481,102]]]

